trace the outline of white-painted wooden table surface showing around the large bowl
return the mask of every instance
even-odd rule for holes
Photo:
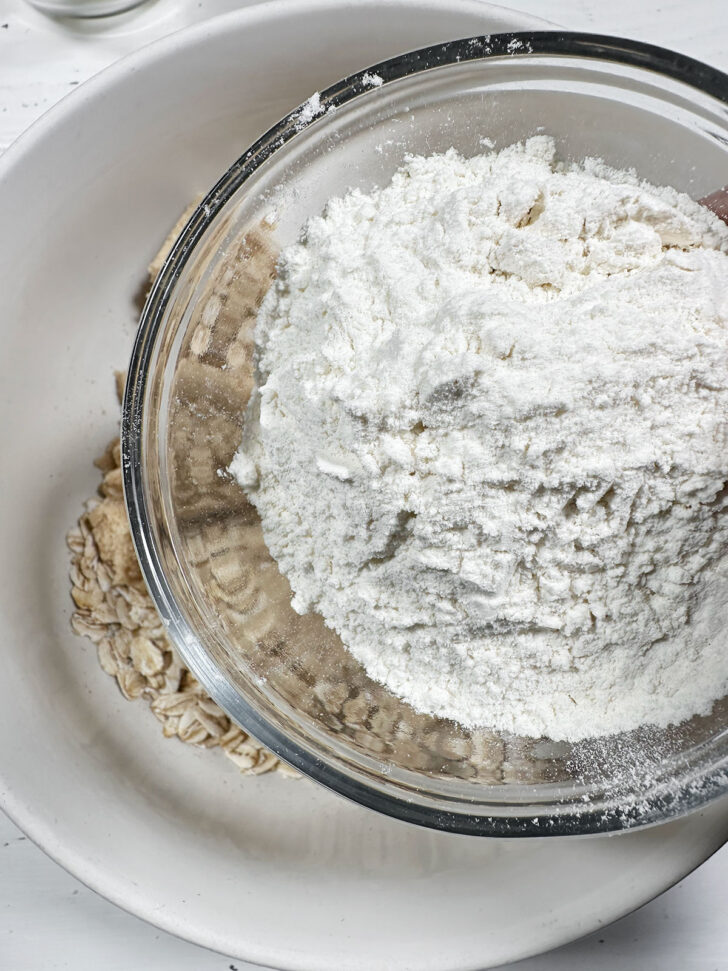
[[[250,0],[155,0],[56,22],[0,0],[0,151],[73,88],[172,30]],[[574,30],[621,34],[728,71],[726,0],[517,0]],[[518,971],[728,971],[728,847],[642,910]],[[51,862],[0,814],[0,971],[247,971],[131,917]]]

